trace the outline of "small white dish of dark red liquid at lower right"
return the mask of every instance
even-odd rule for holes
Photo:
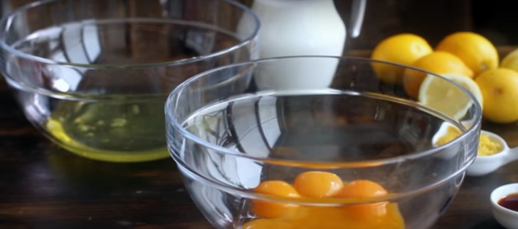
[[[498,201],[509,194],[518,193],[518,183],[499,186],[491,192],[492,213],[498,223],[507,229],[518,229],[518,211],[512,211],[498,204]]]

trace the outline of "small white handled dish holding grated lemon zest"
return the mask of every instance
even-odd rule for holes
[[[477,155],[475,161],[467,168],[467,176],[483,176],[494,172],[504,164],[518,159],[518,147],[509,148],[505,140],[495,133],[481,130],[480,134],[489,135],[492,140],[499,142],[500,145],[502,145],[502,151],[497,152],[494,155]]]

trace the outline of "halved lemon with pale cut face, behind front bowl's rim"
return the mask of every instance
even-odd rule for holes
[[[470,91],[482,107],[482,92],[473,79],[462,74],[441,74]],[[428,74],[419,88],[419,102],[455,120],[464,117],[472,106],[472,99],[458,86]]]

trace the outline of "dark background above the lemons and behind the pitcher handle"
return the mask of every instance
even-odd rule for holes
[[[0,0],[5,14],[34,0]],[[107,0],[110,1],[110,0]],[[139,1],[150,8],[158,0]],[[253,0],[236,0],[250,6]],[[319,0],[315,0],[319,1]],[[145,3],[145,4],[144,4]],[[349,26],[351,0],[334,0],[337,10]],[[497,47],[518,45],[518,11],[514,1],[504,0],[367,0],[366,13],[358,38],[347,38],[345,55],[357,50],[372,50],[389,35],[415,33],[435,46],[446,35],[456,31],[474,31],[484,35]],[[0,77],[1,78],[1,77]],[[0,79],[0,88],[5,87]]]

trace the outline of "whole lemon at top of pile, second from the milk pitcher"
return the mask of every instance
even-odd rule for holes
[[[458,56],[475,75],[498,67],[497,48],[490,40],[477,33],[450,34],[440,41],[435,50]]]

